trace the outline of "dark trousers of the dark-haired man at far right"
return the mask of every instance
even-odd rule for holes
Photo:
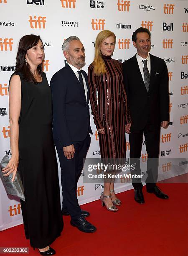
[[[131,174],[141,175],[140,161],[142,162],[141,150],[143,134],[145,136],[145,146],[147,151],[147,189],[152,189],[157,182],[158,178],[158,158],[159,158],[159,146],[160,146],[160,127],[153,127],[146,125],[142,130],[131,131],[130,140],[130,163],[136,164],[135,170],[131,170]],[[142,182],[140,179],[132,179],[132,186],[135,189],[142,188]]]

